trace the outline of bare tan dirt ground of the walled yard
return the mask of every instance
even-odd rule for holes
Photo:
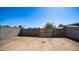
[[[13,37],[0,42],[0,51],[79,51],[79,43],[67,38]]]

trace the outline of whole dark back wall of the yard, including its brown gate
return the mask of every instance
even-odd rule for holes
[[[21,29],[19,36],[63,37],[64,29]]]

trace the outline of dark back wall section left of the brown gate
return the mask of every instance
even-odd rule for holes
[[[21,29],[19,36],[39,36],[40,29]]]

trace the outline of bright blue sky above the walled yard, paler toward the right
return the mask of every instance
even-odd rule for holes
[[[0,7],[0,25],[43,27],[79,22],[78,7]]]

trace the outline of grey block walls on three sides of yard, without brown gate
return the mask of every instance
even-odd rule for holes
[[[40,29],[19,29],[12,27],[0,27],[0,40],[6,40],[14,36],[40,36]],[[79,41],[79,27],[66,26],[64,29],[52,29],[52,37],[69,37]],[[47,35],[46,34],[46,35]],[[42,34],[43,35],[43,34]],[[45,34],[44,34],[45,35]]]

